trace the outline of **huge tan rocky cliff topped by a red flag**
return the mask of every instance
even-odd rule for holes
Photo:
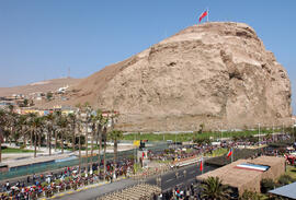
[[[292,116],[286,70],[242,23],[187,27],[76,90],[73,104],[118,110],[125,130],[243,128]]]

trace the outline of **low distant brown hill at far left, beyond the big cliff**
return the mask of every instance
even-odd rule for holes
[[[73,86],[79,83],[79,79],[72,78],[62,78],[62,79],[53,79],[47,81],[41,81],[31,83],[22,86],[13,86],[13,87],[0,87],[0,96],[9,96],[12,94],[30,94],[36,92],[50,92],[57,91],[62,86]]]

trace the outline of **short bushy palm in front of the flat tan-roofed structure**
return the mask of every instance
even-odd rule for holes
[[[230,189],[223,185],[219,177],[208,177],[202,184],[202,198],[209,200],[227,200],[230,198]]]

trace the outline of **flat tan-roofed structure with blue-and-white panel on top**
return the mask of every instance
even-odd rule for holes
[[[241,196],[246,190],[260,192],[260,183],[264,178],[276,179],[285,173],[285,158],[260,156],[254,160],[238,160],[226,166],[208,172],[196,179],[219,177],[223,184],[238,190]]]

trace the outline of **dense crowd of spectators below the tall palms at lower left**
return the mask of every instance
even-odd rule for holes
[[[1,187],[1,200],[33,200],[39,197],[52,197],[56,192],[61,192],[67,189],[76,190],[79,187],[87,186],[89,184],[99,183],[102,180],[113,181],[118,176],[129,176],[134,170],[133,160],[123,160],[116,164],[113,161],[107,161],[106,173],[102,170],[103,161],[100,165],[94,164],[88,168],[79,167],[66,167],[59,173],[49,173],[27,176],[26,180],[18,181],[14,186],[11,186],[7,181]],[[98,170],[99,168],[99,170]]]

